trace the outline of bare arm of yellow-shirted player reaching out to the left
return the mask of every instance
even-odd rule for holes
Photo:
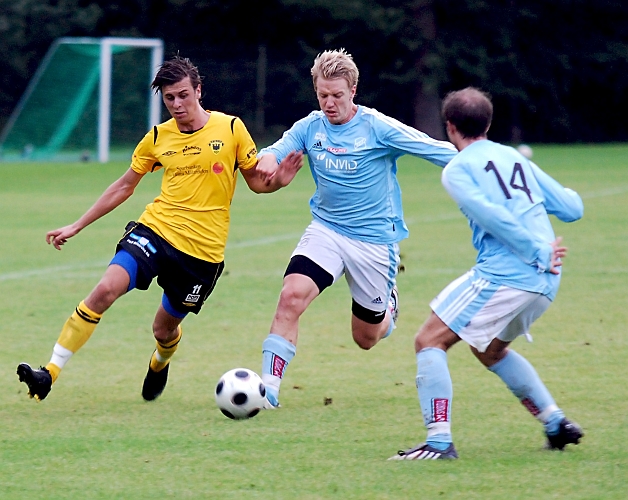
[[[76,222],[46,233],[46,242],[49,245],[53,245],[57,250],[61,250],[61,246],[68,239],[126,201],[133,194],[142,177],[142,174],[138,174],[129,168],[122,177],[105,189],[105,192],[100,195],[96,203]]]

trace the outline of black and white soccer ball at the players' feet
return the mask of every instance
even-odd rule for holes
[[[216,385],[216,404],[226,417],[253,418],[264,407],[266,387],[260,376],[247,368],[234,368]]]

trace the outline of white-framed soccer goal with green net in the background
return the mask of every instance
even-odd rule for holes
[[[161,121],[150,89],[163,41],[59,38],[0,134],[0,160],[129,159]]]

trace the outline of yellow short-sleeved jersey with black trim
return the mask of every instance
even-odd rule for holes
[[[212,111],[193,133],[179,131],[174,119],[157,125],[131,163],[138,174],[164,170],[161,193],[139,222],[188,255],[222,262],[237,170],[256,164],[255,143],[237,117]]]

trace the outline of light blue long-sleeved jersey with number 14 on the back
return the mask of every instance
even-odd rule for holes
[[[464,148],[443,170],[442,182],[469,219],[480,275],[553,299],[560,275],[547,272],[556,239],[548,214],[580,219],[580,196],[515,149],[489,140]]]

